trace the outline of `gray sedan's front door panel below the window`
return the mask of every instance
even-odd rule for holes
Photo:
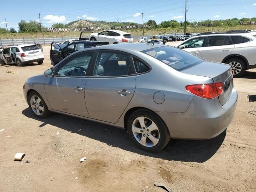
[[[51,108],[88,117],[84,100],[86,81],[86,77],[48,77],[45,83],[45,93]]]

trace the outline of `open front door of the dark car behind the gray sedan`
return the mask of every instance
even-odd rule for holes
[[[63,49],[66,47],[66,44],[59,44],[57,42],[52,42],[50,50],[50,59],[52,65],[58,64],[62,59],[65,58],[63,55]]]

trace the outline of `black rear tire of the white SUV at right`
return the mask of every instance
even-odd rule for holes
[[[240,77],[246,71],[246,63],[241,58],[238,58],[238,57],[229,58],[228,60],[225,61],[225,63],[230,64],[233,72],[233,77]],[[238,65],[238,67],[234,67],[236,65]],[[240,70],[239,73],[237,73],[238,70]]]

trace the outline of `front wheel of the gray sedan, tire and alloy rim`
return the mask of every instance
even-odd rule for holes
[[[28,105],[37,118],[45,118],[50,115],[50,111],[43,98],[37,92],[33,91],[28,95]]]

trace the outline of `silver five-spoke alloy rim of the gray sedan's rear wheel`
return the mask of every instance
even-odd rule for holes
[[[160,138],[158,127],[146,117],[138,117],[133,121],[132,134],[140,144],[146,147],[156,146]]]

